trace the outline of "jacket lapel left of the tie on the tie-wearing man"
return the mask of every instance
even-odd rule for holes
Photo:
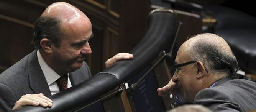
[[[43,93],[46,97],[51,96],[51,91],[37,59],[37,49],[30,53],[28,58],[28,77],[30,88],[35,94]]]

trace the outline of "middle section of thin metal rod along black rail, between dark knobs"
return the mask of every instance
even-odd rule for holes
[[[166,56],[168,55],[168,53],[166,53],[165,51],[162,51],[162,52],[160,53],[160,55],[162,55],[162,57],[146,72],[146,74],[144,74],[144,75],[138,80],[138,82],[131,84],[131,86],[129,87],[129,90],[134,91],[134,90],[138,87],[138,83],[141,82],[141,80],[142,80],[146,75],[148,75],[148,73],[149,73],[152,69],[154,69],[154,67],[155,67],[164,57],[166,57]]]

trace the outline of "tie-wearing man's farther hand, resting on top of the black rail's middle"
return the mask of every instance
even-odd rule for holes
[[[110,67],[111,65],[113,65],[115,62],[119,61],[119,60],[127,60],[127,59],[132,59],[133,58],[133,54],[129,54],[129,53],[118,53],[115,56],[113,56],[112,58],[108,59],[105,62],[105,66]]]

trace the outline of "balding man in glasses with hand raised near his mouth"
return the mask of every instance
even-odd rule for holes
[[[215,34],[199,34],[177,52],[170,82],[158,95],[169,92],[184,102],[201,104],[213,111],[236,112],[256,108],[256,83],[235,79],[238,63],[228,44]]]

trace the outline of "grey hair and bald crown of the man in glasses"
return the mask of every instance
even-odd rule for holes
[[[225,40],[215,34],[198,34],[193,37],[198,36],[200,39],[190,48],[190,57],[194,61],[203,62],[212,72],[224,72],[230,78],[238,78],[238,62]]]

